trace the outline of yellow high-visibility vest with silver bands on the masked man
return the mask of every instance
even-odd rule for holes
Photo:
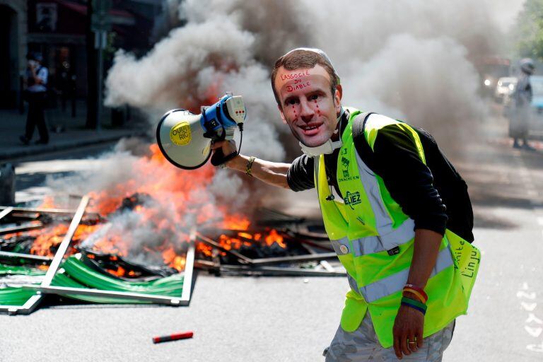
[[[370,313],[380,344],[393,344],[392,327],[407,282],[414,249],[414,221],[390,196],[383,179],[358,156],[352,125],[361,111],[347,108],[349,123],[337,159],[337,183],[343,200],[330,194],[323,155],[315,158],[315,186],[328,237],[344,265],[351,290],[346,295],[341,327],[353,332],[366,311]],[[380,129],[393,125],[414,139],[426,163],[419,135],[408,124],[381,115],[369,117],[364,135],[373,150]],[[438,332],[455,317],[466,314],[481,255],[476,247],[445,230],[436,265],[425,291],[428,310],[424,337]]]

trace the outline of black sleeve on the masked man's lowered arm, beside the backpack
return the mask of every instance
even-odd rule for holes
[[[404,214],[415,221],[415,229],[443,235],[448,220],[446,207],[433,186],[430,169],[419,158],[413,136],[390,124],[378,132],[373,151],[374,172],[383,178]]]

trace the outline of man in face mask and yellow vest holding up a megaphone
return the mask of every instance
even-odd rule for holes
[[[342,107],[339,76],[320,49],[294,49],[279,58],[271,86],[281,119],[305,154],[292,164],[238,155],[226,167],[295,191],[317,188],[327,234],[351,286],[326,361],[440,361],[472,284],[452,260],[448,243],[462,239],[445,230],[448,215],[426,162],[457,175],[454,169],[436,157],[431,137],[423,146],[407,124]],[[213,147],[225,155],[236,149],[233,141]],[[435,150],[425,154],[423,148]],[[436,184],[461,180],[444,178]],[[454,217],[455,231],[472,238],[469,216],[467,222],[462,217]]]

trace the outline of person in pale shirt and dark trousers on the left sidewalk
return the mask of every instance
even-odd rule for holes
[[[42,54],[33,54],[28,60],[26,71],[26,91],[25,96],[28,101],[28,115],[26,117],[25,134],[19,136],[21,142],[25,145],[30,144],[34,128],[40,133],[40,139],[36,144],[48,144],[49,132],[45,124],[45,103],[47,95],[47,67],[42,66]]]

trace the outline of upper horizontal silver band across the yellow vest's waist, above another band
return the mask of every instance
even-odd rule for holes
[[[398,228],[393,229],[392,232],[386,235],[355,239],[352,241],[354,256],[361,257],[362,255],[373,254],[374,252],[383,252],[393,249],[398,245],[408,243],[415,237],[414,227],[414,221],[409,218]]]

